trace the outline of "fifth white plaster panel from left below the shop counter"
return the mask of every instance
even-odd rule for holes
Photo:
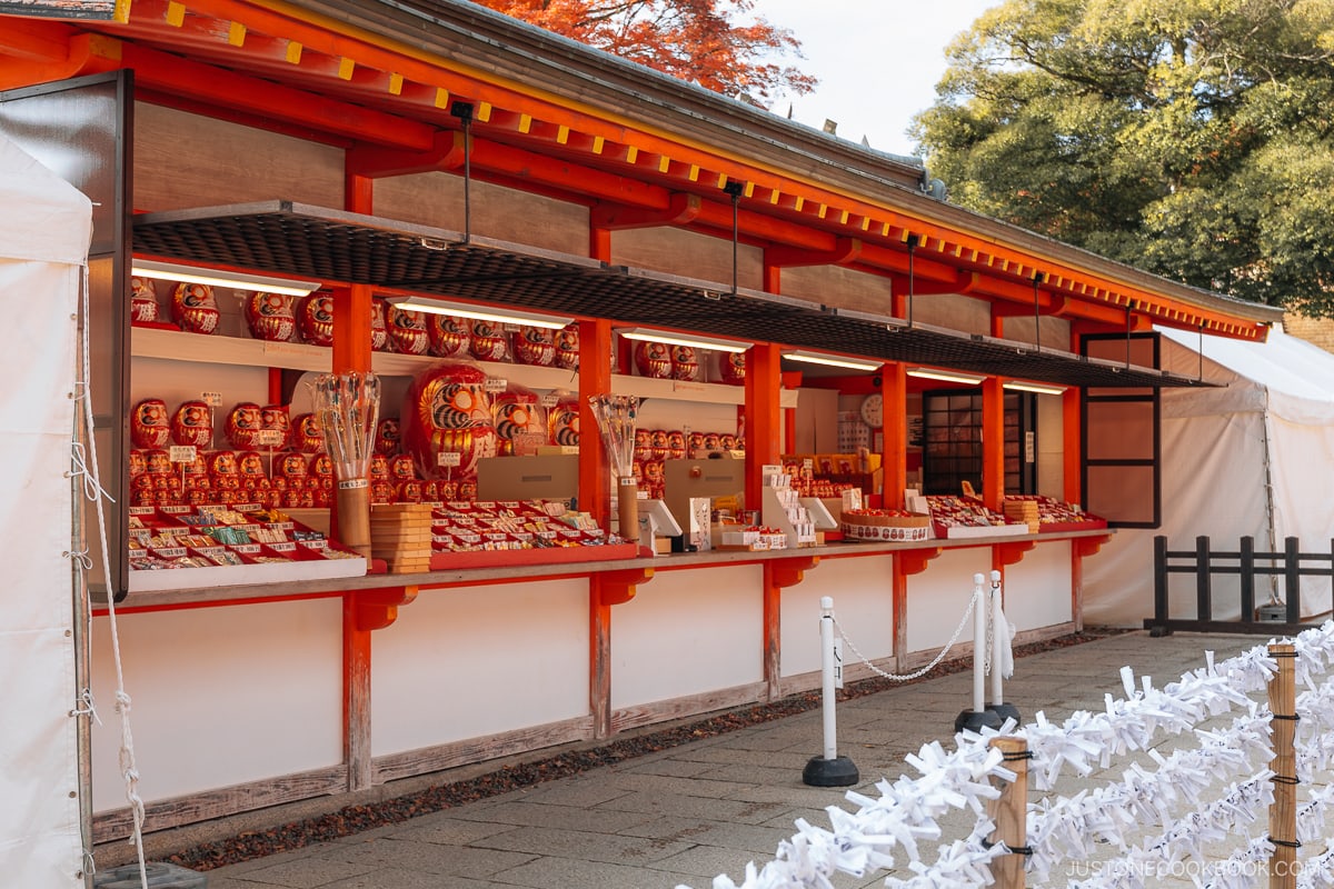
[[[907,653],[939,650],[954,633],[972,596],[972,576],[991,576],[991,546],[946,549],[908,577]],[[990,581],[987,581],[990,582]],[[970,620],[959,641],[972,640]]]

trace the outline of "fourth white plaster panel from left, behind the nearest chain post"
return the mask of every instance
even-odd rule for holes
[[[843,636],[870,660],[894,654],[894,561],[891,556],[824,558],[796,586],[783,590],[783,676],[820,669],[820,597],[834,598]],[[843,662],[856,662],[844,644]]]

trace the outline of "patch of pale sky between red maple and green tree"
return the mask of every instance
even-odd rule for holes
[[[891,155],[911,155],[904,132],[912,115],[935,101],[944,48],[1000,0],[756,0],[754,13],[802,41],[790,59],[820,80],[791,100],[792,120],[838,123],[838,135]],[[771,109],[787,115],[788,100]]]

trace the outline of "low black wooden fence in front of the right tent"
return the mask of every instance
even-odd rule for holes
[[[1173,618],[1167,610],[1167,574],[1195,576],[1195,617]],[[1241,577],[1241,617],[1214,620],[1213,577]],[[1258,620],[1255,578],[1281,576],[1283,605],[1281,620]],[[1194,549],[1170,550],[1166,537],[1154,537],[1154,616],[1145,620],[1153,636],[1174,630],[1195,633],[1261,633],[1286,636],[1310,626],[1302,621],[1302,577],[1334,577],[1334,541],[1327,553],[1303,553],[1297,537],[1283,540],[1283,552],[1257,552],[1254,537],[1242,537],[1235,552],[1215,550],[1209,537],[1195,537]],[[1269,604],[1265,597],[1262,605]]]

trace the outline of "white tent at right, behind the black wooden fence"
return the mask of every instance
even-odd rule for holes
[[[1298,537],[1303,552],[1330,550],[1334,537],[1334,355],[1270,332],[1267,343],[1242,343],[1161,331],[1163,367],[1223,388],[1162,392],[1162,526],[1119,529],[1085,562],[1085,621],[1138,626],[1153,616],[1153,538],[1174,550],[1237,552],[1243,536],[1255,549],[1282,552]],[[1282,598],[1257,578],[1255,602]],[[1171,576],[1170,613],[1193,618],[1194,586]],[[1186,589],[1190,585],[1190,589]],[[1214,618],[1241,613],[1234,577],[1214,577]],[[1302,613],[1330,609],[1329,578],[1302,578]]]

